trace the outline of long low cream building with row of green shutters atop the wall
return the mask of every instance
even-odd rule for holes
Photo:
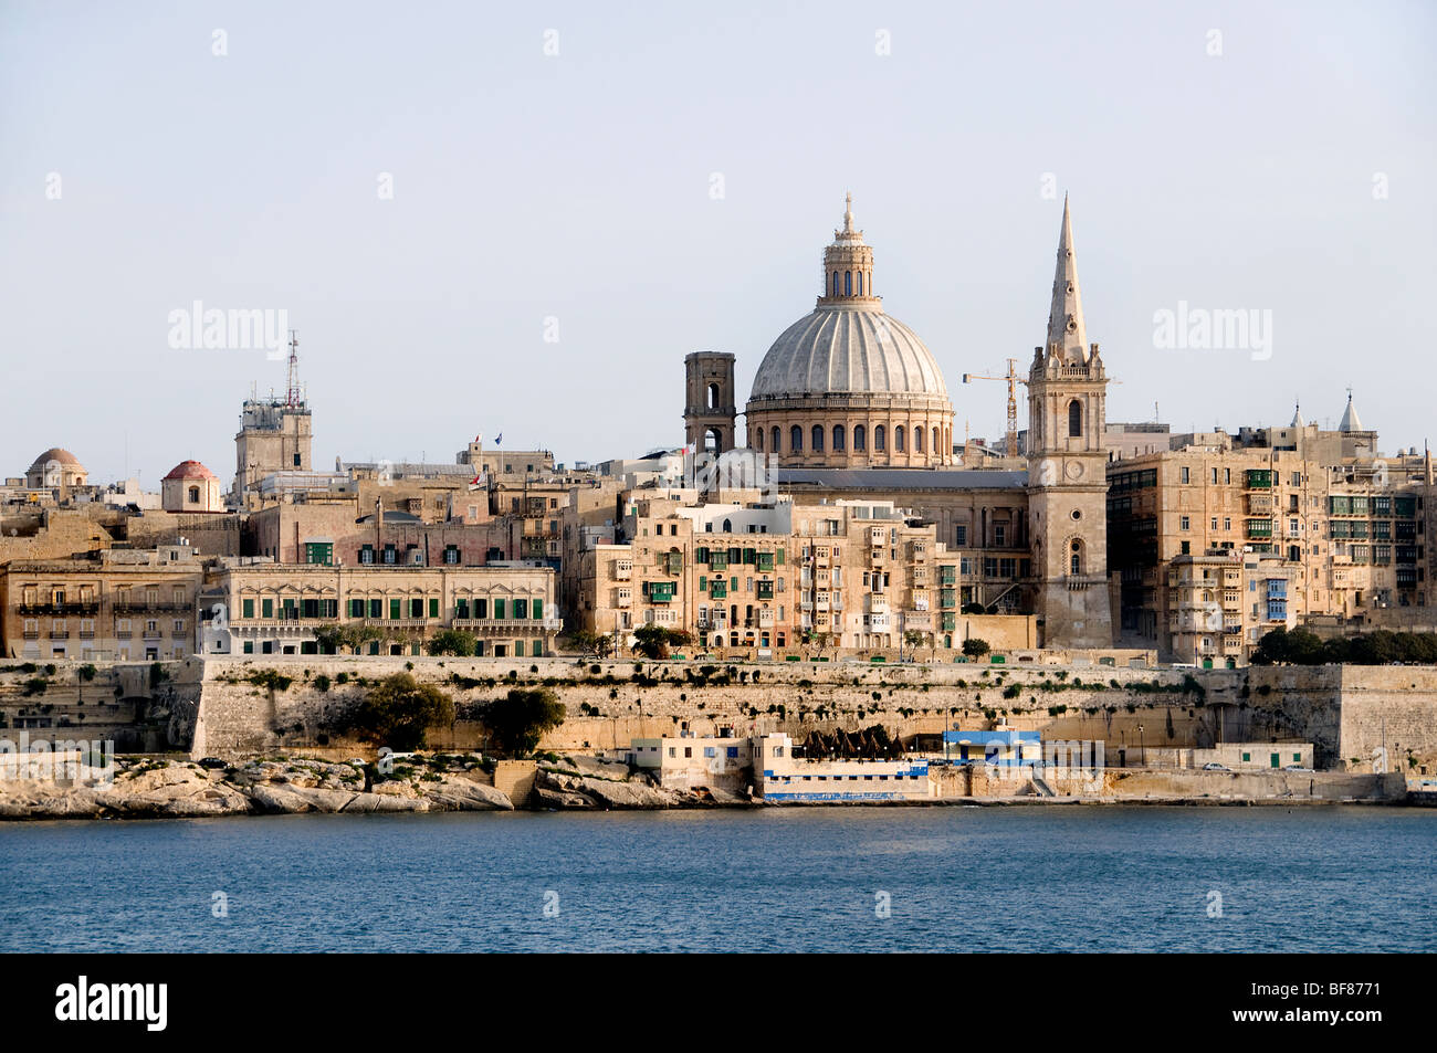
[[[368,654],[417,655],[443,629],[479,639],[481,657],[545,655],[560,621],[556,575],[525,563],[277,566],[226,559],[204,582],[204,654],[320,654],[322,631],[372,631]]]

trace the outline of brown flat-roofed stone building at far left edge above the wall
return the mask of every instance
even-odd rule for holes
[[[197,648],[203,576],[203,557],[180,544],[10,560],[0,567],[4,651],[32,661],[184,658]]]

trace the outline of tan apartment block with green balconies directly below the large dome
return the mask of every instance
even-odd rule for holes
[[[907,631],[943,631],[940,588],[953,569],[931,524],[888,501],[769,507],[635,500],[622,544],[583,567],[583,628],[627,638],[641,625],[700,646],[897,649]],[[950,560],[951,563],[951,560]],[[948,612],[956,613],[956,596]],[[951,629],[950,629],[951,632]]]

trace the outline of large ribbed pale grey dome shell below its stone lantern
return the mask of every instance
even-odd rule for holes
[[[877,307],[821,306],[773,342],[750,398],[846,394],[948,396],[933,353],[902,322]]]

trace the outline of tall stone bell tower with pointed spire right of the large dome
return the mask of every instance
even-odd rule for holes
[[[1027,375],[1027,493],[1042,646],[1112,646],[1108,598],[1108,374],[1088,346],[1063,198],[1048,346]]]

